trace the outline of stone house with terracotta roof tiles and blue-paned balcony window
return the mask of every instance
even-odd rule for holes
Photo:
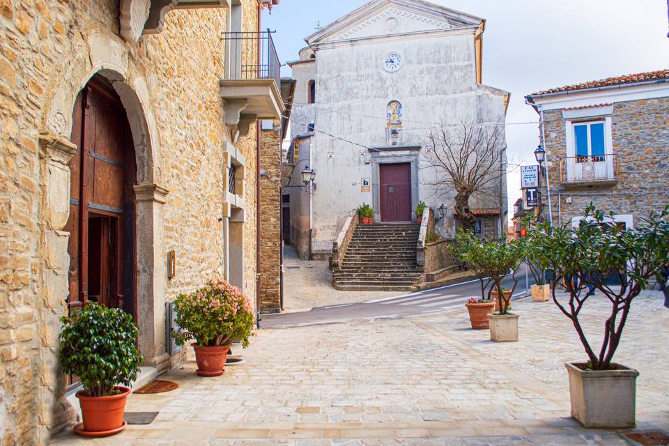
[[[633,227],[669,204],[669,70],[611,77],[527,96],[543,123],[548,185],[542,215],[578,224],[590,204]]]

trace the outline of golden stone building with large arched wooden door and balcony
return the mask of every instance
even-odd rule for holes
[[[180,360],[178,293],[222,275],[256,302],[256,120],[284,112],[271,3],[0,3],[1,444],[73,421],[68,311],[130,312],[155,376]]]

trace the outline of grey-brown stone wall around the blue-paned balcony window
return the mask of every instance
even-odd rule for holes
[[[668,110],[669,98],[616,102],[612,134],[619,180],[613,185],[580,187],[560,184],[557,157],[567,155],[562,110],[544,112],[553,222],[570,222],[591,201],[606,212],[633,215],[634,224],[651,210],[669,204]],[[547,215],[545,185],[541,199]]]

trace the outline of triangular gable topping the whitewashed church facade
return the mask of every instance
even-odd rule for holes
[[[389,34],[480,26],[480,17],[422,0],[372,0],[307,37],[307,43],[336,42]]]

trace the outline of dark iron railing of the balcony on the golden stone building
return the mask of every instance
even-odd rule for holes
[[[281,62],[272,40],[275,31],[223,33],[226,79],[274,79],[281,85]]]

